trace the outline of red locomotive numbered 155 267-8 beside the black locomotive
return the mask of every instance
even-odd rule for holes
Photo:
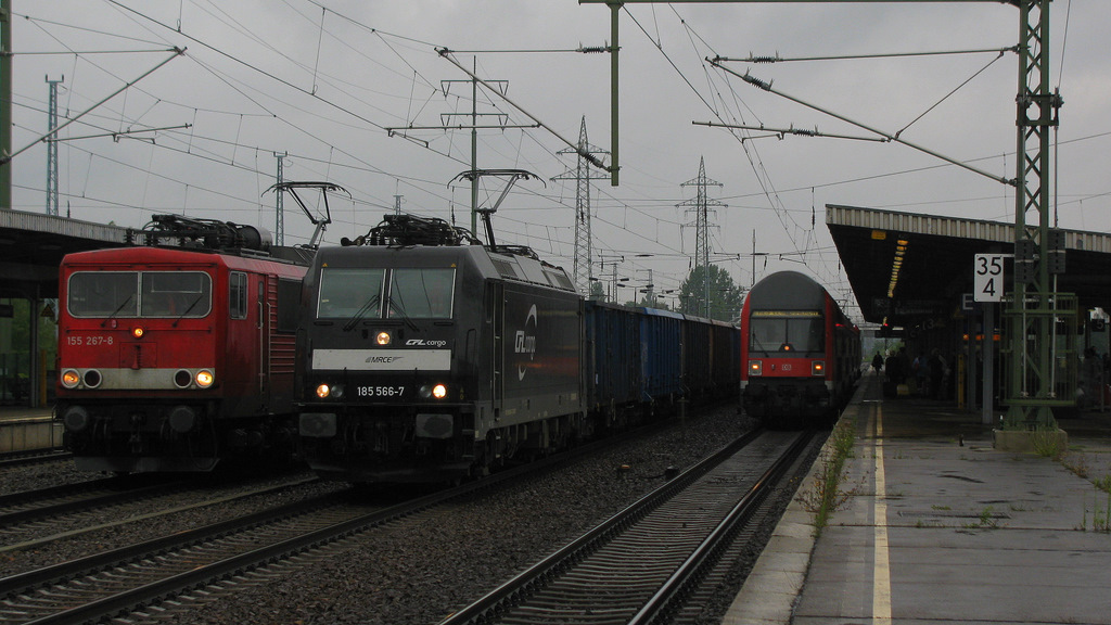
[[[271,255],[262,230],[172,215],[136,234],[138,247],[62,260],[57,417],[77,468],[207,472],[290,457],[311,252]]]

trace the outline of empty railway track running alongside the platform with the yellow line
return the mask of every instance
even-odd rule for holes
[[[647,624],[674,616],[811,437],[739,438],[441,625]]]

